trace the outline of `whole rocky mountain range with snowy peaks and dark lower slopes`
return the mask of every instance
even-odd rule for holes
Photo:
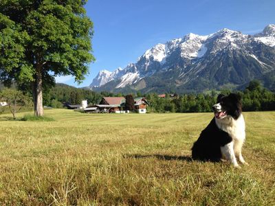
[[[275,25],[254,35],[223,29],[187,34],[148,49],[124,69],[102,70],[94,91],[202,92],[238,88],[251,80],[275,82]],[[272,86],[272,87],[273,87]]]

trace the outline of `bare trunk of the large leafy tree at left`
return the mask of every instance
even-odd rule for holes
[[[32,88],[34,98],[34,115],[43,116],[43,95],[42,95],[42,67],[36,65],[36,81]]]

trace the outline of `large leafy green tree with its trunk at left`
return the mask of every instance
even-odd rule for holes
[[[37,116],[43,115],[43,88],[54,84],[54,76],[81,82],[94,61],[86,1],[0,1],[0,80],[32,89]]]

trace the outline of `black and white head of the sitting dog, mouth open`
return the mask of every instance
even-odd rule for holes
[[[217,119],[223,119],[229,115],[238,119],[241,115],[241,98],[235,93],[230,93],[228,96],[220,94],[217,104],[214,104],[212,109]]]

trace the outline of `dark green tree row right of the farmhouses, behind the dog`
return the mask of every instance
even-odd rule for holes
[[[232,91],[223,90],[221,93],[228,95]],[[252,81],[244,91],[234,91],[242,99],[243,111],[274,111],[275,93],[261,87],[260,82]],[[146,98],[150,102],[151,112],[210,112],[211,107],[217,100],[218,93],[212,91],[210,94],[185,94],[170,98],[159,98],[157,94],[148,94]]]

